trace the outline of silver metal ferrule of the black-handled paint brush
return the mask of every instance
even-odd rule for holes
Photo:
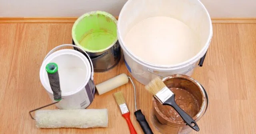
[[[162,90],[156,93],[156,98],[164,103],[168,98],[170,98],[174,93],[167,87],[164,87]]]

